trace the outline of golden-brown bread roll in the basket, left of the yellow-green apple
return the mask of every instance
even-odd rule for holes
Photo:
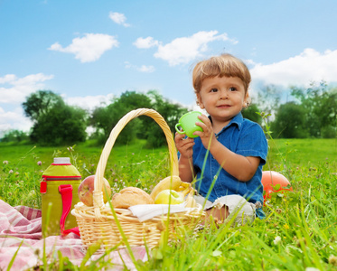
[[[129,208],[137,204],[154,204],[154,200],[140,188],[126,187],[113,195],[111,204],[114,208]]]

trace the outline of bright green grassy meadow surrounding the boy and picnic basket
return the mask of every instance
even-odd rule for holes
[[[115,192],[128,185],[150,191],[169,174],[167,149],[147,150],[143,145],[138,142],[113,148],[105,176]],[[336,139],[271,140],[264,169],[284,173],[294,192],[274,193],[264,207],[266,220],[257,219],[251,226],[221,225],[220,229],[209,225],[197,233],[188,230],[173,243],[161,243],[147,262],[136,262],[136,268],[337,270],[336,145]],[[13,206],[41,206],[37,188],[54,153],[72,157],[80,173],[88,175],[95,173],[102,149],[89,144],[77,145],[73,152],[67,147],[32,148],[0,145],[0,197]],[[67,258],[59,255],[41,268],[57,269],[58,262],[67,262]],[[98,266],[109,263],[101,261]],[[70,263],[68,267],[79,269]]]

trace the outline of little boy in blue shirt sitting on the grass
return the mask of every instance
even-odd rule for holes
[[[267,139],[262,128],[241,115],[248,107],[250,73],[230,54],[199,62],[193,69],[197,103],[209,117],[199,117],[202,132],[194,139],[175,134],[183,182],[196,178],[197,202],[207,216],[235,223],[264,218],[261,209],[262,166],[267,160]]]

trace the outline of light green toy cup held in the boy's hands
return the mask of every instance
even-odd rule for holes
[[[178,134],[181,135],[187,135],[188,137],[195,138],[198,137],[198,135],[193,135],[196,131],[201,131],[201,126],[195,125],[196,122],[202,122],[198,116],[201,116],[201,112],[199,111],[192,111],[189,113],[186,113],[179,119],[179,123],[175,125],[175,130],[178,132]]]

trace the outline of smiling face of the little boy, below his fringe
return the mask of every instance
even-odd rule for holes
[[[197,94],[199,105],[211,115],[213,124],[227,125],[246,106],[248,92],[238,77],[203,79]]]

